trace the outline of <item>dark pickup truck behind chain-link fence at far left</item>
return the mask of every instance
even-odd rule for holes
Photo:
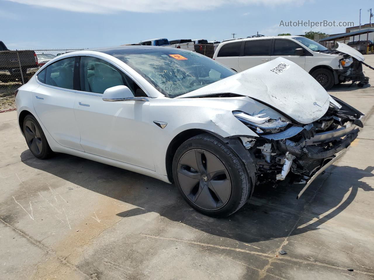
[[[8,50],[5,44],[0,41],[0,82],[10,81],[22,82],[22,69],[24,83],[38,71],[38,59],[33,50]]]

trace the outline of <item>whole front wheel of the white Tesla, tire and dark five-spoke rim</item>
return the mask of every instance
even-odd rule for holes
[[[252,192],[241,159],[210,134],[182,143],[175,152],[172,168],[182,197],[192,208],[211,217],[233,214]]]

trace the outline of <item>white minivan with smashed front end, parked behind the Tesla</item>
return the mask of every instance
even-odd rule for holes
[[[325,89],[346,81],[368,83],[362,73],[364,56],[343,43],[329,50],[302,36],[258,37],[221,43],[213,58],[236,72],[284,57],[305,69]]]

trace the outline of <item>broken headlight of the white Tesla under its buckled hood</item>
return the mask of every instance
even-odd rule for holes
[[[289,124],[288,121],[284,121],[281,118],[272,119],[266,114],[249,115],[242,111],[233,111],[233,115],[244,124],[251,128],[254,128],[257,134],[261,133],[277,133],[282,131]]]

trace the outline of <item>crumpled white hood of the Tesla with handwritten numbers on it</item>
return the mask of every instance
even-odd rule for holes
[[[234,93],[258,100],[288,118],[309,124],[321,118],[330,96],[304,69],[278,57],[176,98]]]

